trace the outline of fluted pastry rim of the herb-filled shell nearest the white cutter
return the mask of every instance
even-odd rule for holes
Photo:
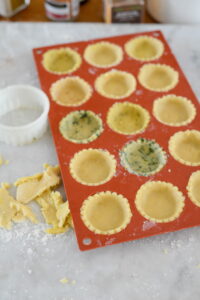
[[[87,113],[87,115],[91,116],[94,120],[96,120],[98,123],[98,129],[87,138],[83,138],[83,139],[70,138],[69,136],[67,136],[66,134],[64,134],[62,132],[61,127],[65,126],[64,123],[67,122],[67,120],[70,123],[70,117],[73,117],[73,115],[74,116],[78,115],[78,114],[80,115],[81,113],[82,114]],[[63,138],[70,142],[73,142],[76,144],[87,144],[87,143],[94,141],[95,139],[97,139],[100,136],[100,134],[103,132],[103,123],[102,123],[101,118],[97,114],[92,112],[91,110],[76,110],[76,111],[72,111],[71,113],[67,114],[64,118],[61,119],[60,124],[59,124],[59,131],[60,131],[61,135],[63,136]],[[66,130],[65,130],[65,133],[66,133]]]

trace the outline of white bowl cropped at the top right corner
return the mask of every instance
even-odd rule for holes
[[[147,0],[147,10],[161,23],[200,23],[200,0]]]

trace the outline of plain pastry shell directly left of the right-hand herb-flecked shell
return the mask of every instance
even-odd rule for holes
[[[86,180],[83,180],[83,178],[81,178],[81,176],[79,176],[77,174],[77,169],[79,169],[79,173],[81,172],[80,171],[81,167],[79,165],[79,162],[82,163],[84,161],[84,157],[85,157],[85,159],[87,161],[87,168],[88,168],[89,156],[91,156],[91,159],[93,159],[95,155],[96,155],[97,159],[99,156],[99,158],[102,159],[102,161],[100,161],[96,166],[95,165],[93,166],[94,170],[92,172],[92,175],[94,176],[95,172],[100,171],[99,170],[100,168],[107,168],[106,171],[108,172],[108,174],[107,174],[107,176],[104,176],[104,178],[101,178],[101,180],[99,180],[97,182],[91,182],[91,181],[87,182]],[[110,154],[107,150],[89,148],[89,149],[81,150],[74,155],[74,157],[70,161],[69,169],[70,169],[70,173],[71,173],[72,177],[79,183],[88,185],[88,186],[97,186],[97,185],[101,185],[101,184],[108,182],[115,175],[116,165],[117,165],[117,163],[116,163],[115,157],[112,154]],[[83,169],[82,169],[82,171],[83,171]],[[90,170],[90,171],[92,171],[92,170]],[[103,171],[104,170],[102,169],[102,172]],[[88,169],[87,169],[87,172],[88,172]],[[103,177],[103,175],[100,177]]]

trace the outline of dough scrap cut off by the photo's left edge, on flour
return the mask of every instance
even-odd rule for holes
[[[0,188],[0,227],[10,229],[12,221],[19,222],[25,218],[33,223],[38,222],[29,207],[16,201],[6,189]]]

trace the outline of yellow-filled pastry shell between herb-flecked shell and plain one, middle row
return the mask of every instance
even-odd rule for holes
[[[124,113],[123,109],[125,109],[125,112],[128,112],[128,110],[130,111],[130,113],[132,113],[133,115],[137,115],[140,114],[140,116],[138,117],[138,119],[141,119],[141,125],[140,128],[132,130],[129,132],[128,131],[123,131],[120,130],[119,128],[117,128],[118,124],[119,124],[119,120],[116,121],[117,117],[120,117],[120,110],[121,113]],[[135,116],[132,119],[135,119]],[[120,134],[125,134],[125,135],[131,135],[131,134],[137,134],[137,133],[141,133],[143,131],[145,131],[146,127],[148,126],[150,121],[150,115],[148,113],[148,111],[146,109],[144,109],[141,105],[138,104],[133,104],[131,102],[120,102],[120,103],[115,103],[111,106],[111,108],[108,111],[107,114],[107,124],[108,126],[115,132],[120,133]],[[118,124],[117,124],[118,123]],[[124,117],[123,120],[121,122],[122,124],[124,124]],[[142,124],[143,123],[143,124]],[[130,122],[129,122],[130,124]],[[117,126],[116,126],[117,125]],[[135,126],[135,124],[134,124]],[[139,126],[138,126],[139,127]]]

